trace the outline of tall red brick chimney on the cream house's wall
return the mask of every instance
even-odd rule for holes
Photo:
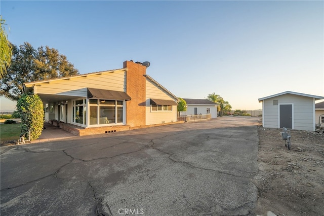
[[[140,62],[125,61],[126,93],[132,98],[126,101],[126,124],[131,127],[146,123],[146,67]]]

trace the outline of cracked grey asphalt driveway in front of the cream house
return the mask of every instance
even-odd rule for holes
[[[255,215],[258,118],[1,147],[1,215]]]

